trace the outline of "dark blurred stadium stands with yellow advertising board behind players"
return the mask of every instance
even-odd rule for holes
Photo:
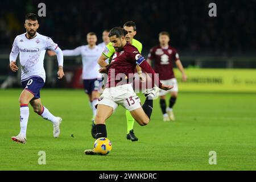
[[[38,13],[40,2],[1,2],[0,84],[8,76],[15,80],[20,75],[9,69],[9,53],[15,36],[25,32],[24,15]],[[46,17],[39,19],[38,32],[50,36],[61,49],[86,44],[86,33],[90,31],[97,33],[98,43],[101,43],[103,30],[134,20],[137,23],[135,38],[142,42],[142,54],[146,57],[149,49],[158,44],[158,33],[170,32],[171,46],[177,48],[187,68],[188,82],[180,83],[181,91],[195,90],[195,85],[197,90],[220,88],[229,92],[256,92],[255,1],[43,2],[46,3]],[[217,4],[217,17],[208,15],[211,2]],[[46,56],[46,86],[81,88],[80,57],[65,57],[66,76],[58,82],[57,61],[53,60],[54,57]],[[176,76],[179,79],[179,73]],[[19,84],[16,81],[10,86],[19,87]]]

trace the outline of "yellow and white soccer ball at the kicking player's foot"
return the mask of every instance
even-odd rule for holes
[[[93,144],[93,150],[97,154],[107,155],[112,150],[112,143],[108,138],[98,138]]]

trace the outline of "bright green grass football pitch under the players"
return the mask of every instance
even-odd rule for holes
[[[26,144],[11,140],[20,130],[20,92],[0,90],[0,170],[256,170],[256,94],[181,92],[175,122],[162,121],[155,100],[150,123],[134,124],[138,142],[126,139],[119,106],[106,122],[112,152],[88,156],[92,110],[83,90],[43,89],[43,105],[63,118],[61,134],[53,138],[52,124],[30,106]],[[38,163],[40,151],[46,164]],[[217,164],[209,164],[210,151]]]

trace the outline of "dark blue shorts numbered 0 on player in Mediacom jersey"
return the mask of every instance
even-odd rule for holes
[[[44,80],[41,77],[31,77],[22,81],[22,88],[34,95],[33,100],[40,98],[40,90],[44,86]]]

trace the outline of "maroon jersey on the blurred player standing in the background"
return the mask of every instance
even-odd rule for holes
[[[171,46],[168,46],[168,48],[155,46],[150,49],[148,59],[154,61],[154,70],[159,73],[160,80],[175,78],[174,61],[179,60],[179,55],[175,48]]]

